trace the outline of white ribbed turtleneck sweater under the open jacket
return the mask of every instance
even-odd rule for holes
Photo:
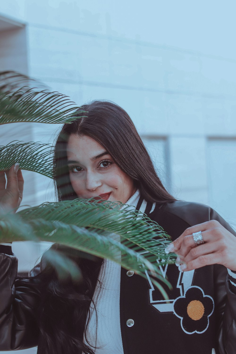
[[[140,197],[139,190],[125,203],[130,205],[128,210],[136,209]],[[112,234],[120,241],[120,236]],[[120,272],[121,266],[108,259],[104,260],[99,272],[93,301],[96,311],[91,303],[91,319],[88,325],[87,345],[96,346],[96,354],[123,354],[123,345],[120,328]],[[101,289],[100,289],[101,288]],[[97,342],[96,342],[97,334]]]

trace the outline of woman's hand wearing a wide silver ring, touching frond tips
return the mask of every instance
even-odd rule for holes
[[[192,233],[198,231],[202,232],[205,243],[196,246]],[[189,227],[166,248],[166,252],[177,254],[175,264],[180,271],[216,263],[236,271],[236,237],[216,220]]]

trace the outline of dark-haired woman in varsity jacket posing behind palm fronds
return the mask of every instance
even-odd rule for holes
[[[121,107],[94,101],[82,109],[87,117],[65,124],[57,139],[58,199],[119,200],[157,221],[174,240],[166,252],[179,255],[178,267],[160,265],[173,287],[166,289],[169,301],[148,276],[145,280],[59,245],[52,247],[79,264],[82,284],[59,280],[44,256],[31,278],[15,281],[16,258],[10,245],[2,245],[0,349],[38,345],[39,354],[234,353],[235,232],[210,207],[177,201],[165,190]],[[16,208],[22,199],[17,168],[9,170],[6,190],[0,175],[3,208]]]

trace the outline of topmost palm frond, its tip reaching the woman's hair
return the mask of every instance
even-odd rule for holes
[[[47,90],[45,85],[27,75],[0,72],[0,124],[68,123],[76,119],[74,112],[79,108],[68,96]]]

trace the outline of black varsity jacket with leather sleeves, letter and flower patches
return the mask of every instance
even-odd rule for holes
[[[136,209],[159,223],[173,240],[189,226],[212,219],[236,236],[206,205],[184,201],[152,204],[140,197]],[[34,287],[35,278],[19,285],[17,259],[9,246],[0,247],[0,350],[37,346],[35,308],[40,293]],[[44,268],[42,261],[32,275],[40,272],[40,267]],[[121,269],[124,354],[236,354],[236,272],[228,274],[219,264],[183,273],[175,265],[160,269],[173,287],[172,291],[166,288],[169,302],[163,300],[148,276],[144,279]]]

